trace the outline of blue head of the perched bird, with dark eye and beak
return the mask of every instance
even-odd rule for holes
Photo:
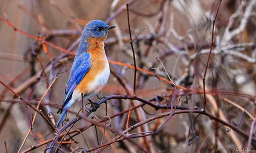
[[[107,25],[101,20],[91,20],[84,27],[83,35],[87,38],[102,38],[104,40],[107,36],[108,30],[114,27],[115,26]]]

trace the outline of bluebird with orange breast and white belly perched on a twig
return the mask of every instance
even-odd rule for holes
[[[56,129],[64,120],[67,110],[82,96],[93,104],[90,98],[106,85],[110,70],[103,41],[108,30],[114,27],[101,20],[91,20],[85,25],[65,86],[64,102],[57,112],[60,115]]]

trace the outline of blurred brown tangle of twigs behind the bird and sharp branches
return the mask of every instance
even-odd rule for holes
[[[186,109],[203,108],[202,78],[211,48],[212,20],[219,0],[0,0],[0,80],[36,108],[57,75],[39,107],[54,125],[73,60],[73,56],[63,50],[75,52],[86,23],[100,19],[116,28],[108,33],[105,40],[108,60],[113,62],[110,63],[107,86],[99,96],[132,95],[134,71],[127,65],[133,65],[133,56],[125,3],[129,3],[132,37],[145,27],[133,41],[136,66],[146,70],[137,71],[136,96],[169,106],[173,86],[149,73],[166,80],[169,80],[169,75],[177,85],[174,105],[178,103]],[[251,132],[255,134],[252,122],[255,121],[256,90],[255,3],[256,0],[221,1],[205,78],[206,111],[247,136]],[[93,101],[97,100],[95,96]],[[72,133],[76,135],[67,135],[64,139],[67,143],[62,144],[58,152],[79,153],[81,150],[75,151],[78,147],[96,151],[94,147],[111,142],[116,133],[126,129],[128,112],[118,113],[140,104],[135,100],[109,100],[107,116],[117,114],[110,121],[111,127],[107,126],[108,121],[90,126],[98,121],[95,117],[80,120],[72,127],[78,131]],[[80,109],[81,104],[77,103],[70,109],[67,120],[75,118]],[[155,111],[147,105],[138,107],[131,111],[128,125],[168,111]],[[34,110],[0,86],[2,153],[5,151],[4,142],[8,153],[19,150],[31,125],[32,114]],[[99,119],[105,116],[104,104],[90,116],[93,115]],[[248,145],[255,148],[254,138],[250,143],[247,136],[235,132],[233,127],[224,126],[204,115],[195,120],[196,115],[174,115],[156,135],[119,141],[97,152],[228,153],[233,148]],[[129,133],[154,131],[167,118],[153,120]],[[90,128],[86,129],[87,126]],[[79,131],[81,129],[83,131]],[[52,129],[37,114],[21,152],[43,153],[50,141],[43,142],[53,137]],[[38,144],[43,145],[36,146]]]

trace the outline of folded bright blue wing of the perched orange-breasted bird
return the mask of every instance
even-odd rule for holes
[[[62,107],[71,99],[72,93],[78,83],[82,80],[83,76],[88,72],[90,67],[90,54],[86,51],[82,52],[78,56],[75,56],[73,65],[69,74],[69,78],[65,88],[65,99]]]

